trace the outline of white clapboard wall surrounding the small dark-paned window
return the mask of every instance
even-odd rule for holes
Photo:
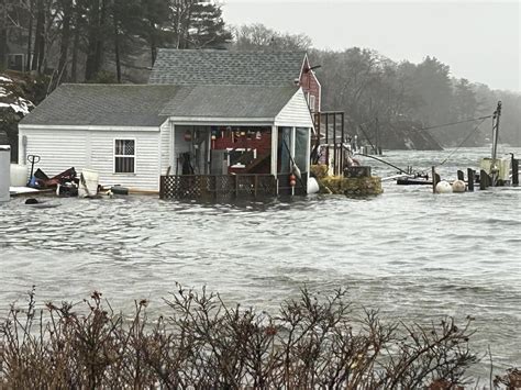
[[[99,130],[20,130],[20,138],[27,136],[26,154],[42,157],[36,168],[47,176],[75,167],[99,172],[103,186],[121,185],[137,190],[159,190],[159,132],[158,131],[99,131]],[[114,140],[135,140],[134,174],[114,174]],[[20,156],[23,155],[23,152]],[[21,157],[22,159],[23,157]],[[20,161],[22,163],[22,161]]]

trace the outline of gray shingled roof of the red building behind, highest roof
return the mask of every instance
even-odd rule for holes
[[[148,83],[291,86],[304,58],[306,52],[162,48]]]

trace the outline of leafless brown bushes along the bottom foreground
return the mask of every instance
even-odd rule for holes
[[[355,315],[344,290],[302,289],[274,316],[206,289],[178,286],[165,302],[168,316],[148,320],[140,301],[126,320],[98,292],[44,310],[31,292],[0,325],[0,388],[458,389],[476,361],[470,319],[385,324]]]

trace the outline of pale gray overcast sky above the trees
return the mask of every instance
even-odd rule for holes
[[[520,0],[224,0],[228,23],[306,33],[317,48],[369,47],[393,59],[435,56],[452,75],[521,91]]]

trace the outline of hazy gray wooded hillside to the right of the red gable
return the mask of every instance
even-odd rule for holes
[[[489,115],[497,101],[503,99],[508,104],[503,101],[502,141],[521,145],[520,96],[453,79],[450,67],[435,57],[426,57],[418,65],[398,64],[377,52],[353,47],[343,52],[313,51],[311,62],[322,65],[317,70],[323,90],[322,109],[345,111],[348,131],[358,133],[362,141],[365,135],[375,141],[376,118],[381,138],[387,134],[390,140],[395,130],[404,129],[407,123],[412,131]],[[478,123],[435,129],[422,138],[432,136],[444,146],[456,146],[465,140],[466,146],[479,145],[490,137],[490,126],[484,123],[475,131]],[[468,136],[472,132],[473,136]],[[397,147],[396,143],[392,147]]]

